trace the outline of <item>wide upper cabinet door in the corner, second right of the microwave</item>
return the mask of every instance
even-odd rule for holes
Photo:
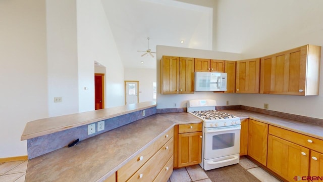
[[[260,59],[237,61],[236,93],[259,93]]]

